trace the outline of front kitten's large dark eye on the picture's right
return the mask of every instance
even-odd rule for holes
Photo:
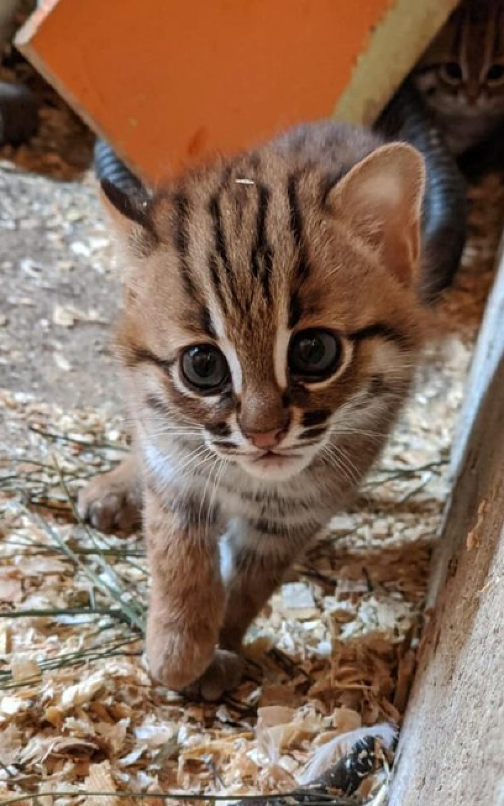
[[[341,340],[329,330],[301,330],[289,344],[291,374],[306,380],[324,380],[341,361]]]

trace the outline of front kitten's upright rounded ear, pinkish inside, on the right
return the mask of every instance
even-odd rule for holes
[[[336,205],[403,285],[415,279],[424,188],[419,152],[406,143],[390,143],[352,168],[330,194],[333,210]]]

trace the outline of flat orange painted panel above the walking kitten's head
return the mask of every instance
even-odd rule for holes
[[[60,0],[20,44],[156,181],[327,117],[391,0]]]

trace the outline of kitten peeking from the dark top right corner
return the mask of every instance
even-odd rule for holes
[[[504,128],[504,0],[464,0],[413,71],[459,156]]]

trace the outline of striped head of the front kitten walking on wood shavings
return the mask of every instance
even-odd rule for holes
[[[423,161],[370,141],[343,176],[263,147],[145,203],[105,187],[134,416],[157,455],[184,447],[180,472],[222,458],[282,480],[386,433],[419,343]]]

